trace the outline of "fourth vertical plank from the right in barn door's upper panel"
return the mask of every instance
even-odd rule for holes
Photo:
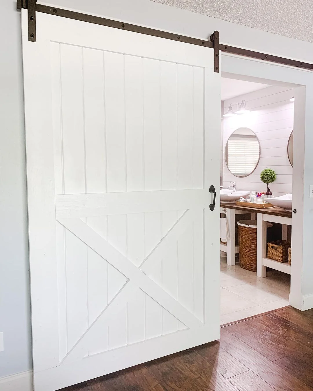
[[[144,190],[161,189],[160,61],[143,59]]]

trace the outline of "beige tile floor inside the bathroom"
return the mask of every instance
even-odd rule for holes
[[[221,256],[221,324],[262,314],[289,304],[290,275],[267,269],[266,278],[228,266]]]

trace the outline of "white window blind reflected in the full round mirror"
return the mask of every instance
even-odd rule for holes
[[[228,140],[228,169],[236,176],[246,176],[254,171],[259,160],[260,147],[255,138]]]

